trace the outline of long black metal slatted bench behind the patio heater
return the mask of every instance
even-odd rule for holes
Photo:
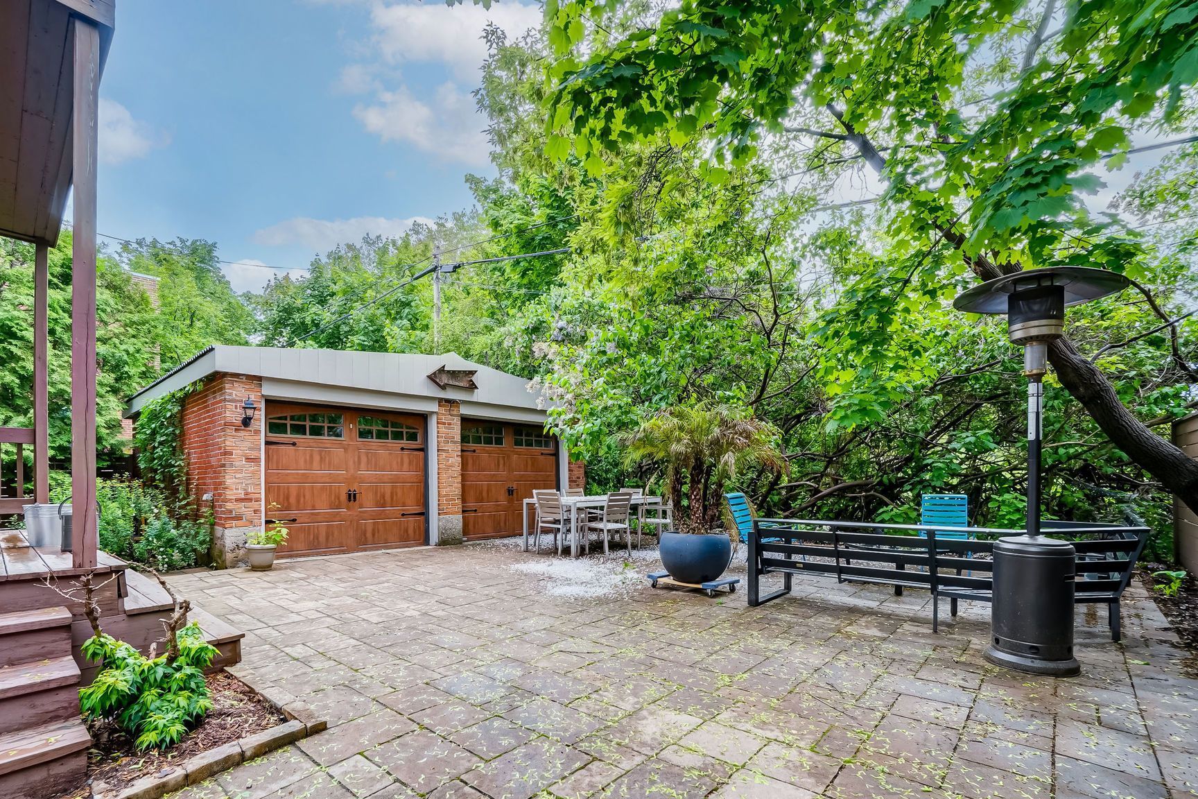
[[[766,528],[766,537],[762,535]],[[1119,641],[1119,600],[1131,581],[1148,527],[1091,522],[1042,522],[1045,534],[1066,538],[1077,551],[1077,604],[1105,603],[1112,640]],[[932,630],[939,631],[940,599],[957,615],[960,600],[992,600],[994,539],[1023,531],[993,527],[954,528],[809,519],[757,519],[749,535],[749,605],[756,607],[791,593],[792,576],[818,574],[837,582],[864,582],[931,592]],[[958,534],[966,532],[968,539]],[[781,574],[782,588],[764,597],[761,576]]]

